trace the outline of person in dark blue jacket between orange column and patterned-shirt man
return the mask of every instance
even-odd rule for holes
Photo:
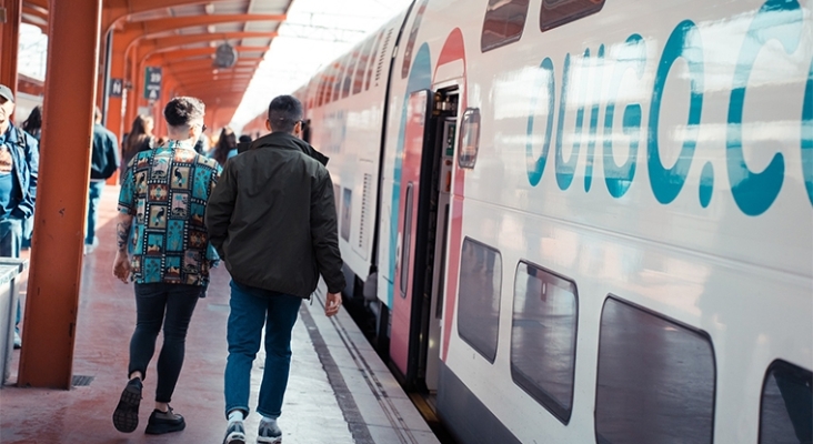
[[[102,115],[99,107],[93,110],[93,150],[90,157],[90,184],[88,190],[88,223],[84,234],[84,254],[92,253],[99,245],[96,236],[96,223],[99,219],[104,182],[119,169],[119,141],[116,134],[101,124]]]

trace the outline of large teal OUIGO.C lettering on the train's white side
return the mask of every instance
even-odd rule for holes
[[[756,57],[766,42],[777,40],[784,51],[790,54],[799,48],[803,32],[804,16],[797,0],[769,0],[754,17],[746,33],[745,42],[740,51],[729,103],[725,154],[732,195],[740,210],[747,215],[755,216],[767,211],[779,196],[785,175],[785,162],[780,152],[774,154],[769,167],[762,172],[751,171],[745,163],[742,147],[742,120],[747,81]],[[691,81],[689,115],[686,119],[686,131],[684,132],[685,139],[683,140],[678,160],[671,168],[666,168],[661,160],[659,147],[660,118],[663,107],[662,98],[672,68],[680,59],[686,62]],[[606,73],[611,75],[611,83],[604,113],[603,152],[599,155],[603,158],[606,189],[614,199],[620,199],[626,194],[635,176],[639,141],[642,131],[642,107],[640,103],[630,103],[625,107],[621,117],[623,133],[629,138],[629,155],[625,162],[619,165],[613,155],[612,137],[615,119],[615,102],[624,74],[632,70],[638,79],[641,80],[644,74],[646,61],[646,43],[641,36],[633,34],[620,47],[612,73]],[[573,81],[571,79],[571,54],[566,54],[563,62],[554,153],[556,185],[562,191],[568,190],[572,185],[575,176],[582,149],[581,140],[582,132],[584,131],[585,113],[588,112],[585,109],[585,103],[588,103],[588,89],[592,89],[593,97],[596,97],[601,92],[601,82],[605,74],[603,72],[604,46],[599,47],[595,57],[592,59],[590,50],[585,50],[581,62],[592,67],[593,84],[589,84],[590,79],[586,74],[589,70],[580,70],[580,78],[575,80],[578,81],[575,87],[580,91],[580,97],[578,98],[579,108],[575,112],[575,133],[569,159],[565,159],[563,154],[563,141],[568,103],[572,100],[569,98],[569,91],[574,90],[570,84]],[[680,195],[694,160],[694,151],[703,111],[704,70],[703,41],[701,40],[697,26],[691,20],[684,20],[674,28],[661,54],[654,79],[646,129],[646,168],[649,170],[650,188],[658,202],[662,204],[669,204]],[[550,154],[551,134],[554,123],[555,69],[550,58],[545,58],[540,64],[536,79],[536,84],[534,84],[533,90],[535,94],[531,97],[531,108],[526,127],[528,141],[525,144],[528,180],[532,186],[536,186],[542,180]],[[545,113],[548,119],[544,122],[545,135],[542,142],[541,153],[534,159],[534,125],[539,123],[541,127],[542,124],[542,122],[535,122],[534,113],[536,107],[541,104],[538,102],[543,93],[548,95],[548,109]],[[589,119],[590,137],[585,152],[586,164],[584,170],[585,192],[591,190],[593,182],[593,159],[595,157],[596,133],[599,131],[598,103],[591,105]],[[809,200],[813,205],[813,61],[811,62],[805,85],[801,121],[802,173]],[[697,198],[702,208],[707,208],[711,203],[713,188],[714,168],[711,162],[706,162],[702,167],[699,183]]]

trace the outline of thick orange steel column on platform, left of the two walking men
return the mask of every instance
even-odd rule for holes
[[[18,385],[71,387],[102,0],[50,0],[42,159]],[[58,148],[51,150],[49,147]]]

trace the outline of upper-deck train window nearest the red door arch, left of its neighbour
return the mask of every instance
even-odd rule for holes
[[[489,0],[480,50],[486,52],[520,40],[526,17],[528,0]]]

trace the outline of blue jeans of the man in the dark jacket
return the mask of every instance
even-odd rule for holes
[[[291,331],[302,299],[290,294],[255,289],[231,281],[231,313],[227,340],[225,415],[233,410],[249,413],[251,365],[260,351],[265,325],[265,369],[262,373],[257,413],[277,418],[282,413],[282,397],[291,369]]]

